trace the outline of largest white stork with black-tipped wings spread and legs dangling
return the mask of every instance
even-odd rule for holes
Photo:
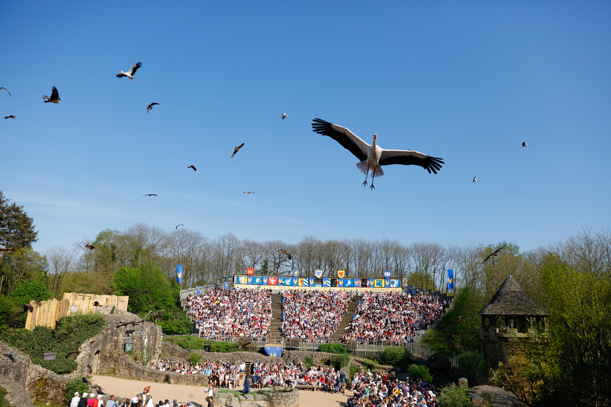
[[[360,160],[356,166],[365,174],[363,185],[367,185],[367,176],[371,170],[371,190],[375,189],[373,178],[384,175],[381,165],[420,165],[430,174],[431,171],[437,173],[441,164],[444,164],[441,158],[427,156],[418,151],[383,149],[376,144],[377,134],[373,135],[373,145],[368,145],[345,127],[321,119],[313,120],[312,131],[328,135]]]

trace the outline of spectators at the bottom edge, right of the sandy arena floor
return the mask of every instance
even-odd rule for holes
[[[350,383],[354,392],[348,407],[436,407],[437,393],[433,383],[421,379],[387,380],[386,373],[369,370],[354,375]]]

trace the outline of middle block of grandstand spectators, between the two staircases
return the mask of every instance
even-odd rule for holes
[[[352,294],[346,291],[282,291],[282,334],[324,341],[337,329]]]

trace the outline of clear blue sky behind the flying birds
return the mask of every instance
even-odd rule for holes
[[[602,1],[9,2],[0,189],[41,252],[136,222],[530,250],[610,226],[609,21]],[[371,191],[313,118],[445,164]]]

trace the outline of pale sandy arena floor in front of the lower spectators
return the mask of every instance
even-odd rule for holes
[[[167,383],[149,383],[140,380],[121,379],[112,376],[93,376],[91,382],[97,384],[104,389],[107,394],[115,394],[120,397],[135,397],[136,394],[144,389],[144,386],[151,386],[150,394],[153,401],[156,403],[159,400],[174,400],[178,403],[191,402],[194,407],[206,406],[206,390],[207,387],[187,386],[186,384],[167,384]],[[348,400],[348,394],[329,394],[325,392],[300,391],[299,406],[300,407],[340,407],[345,406]],[[118,400],[118,397],[115,397]],[[215,404],[215,406],[217,406]],[[219,405],[220,406],[220,405]]]

